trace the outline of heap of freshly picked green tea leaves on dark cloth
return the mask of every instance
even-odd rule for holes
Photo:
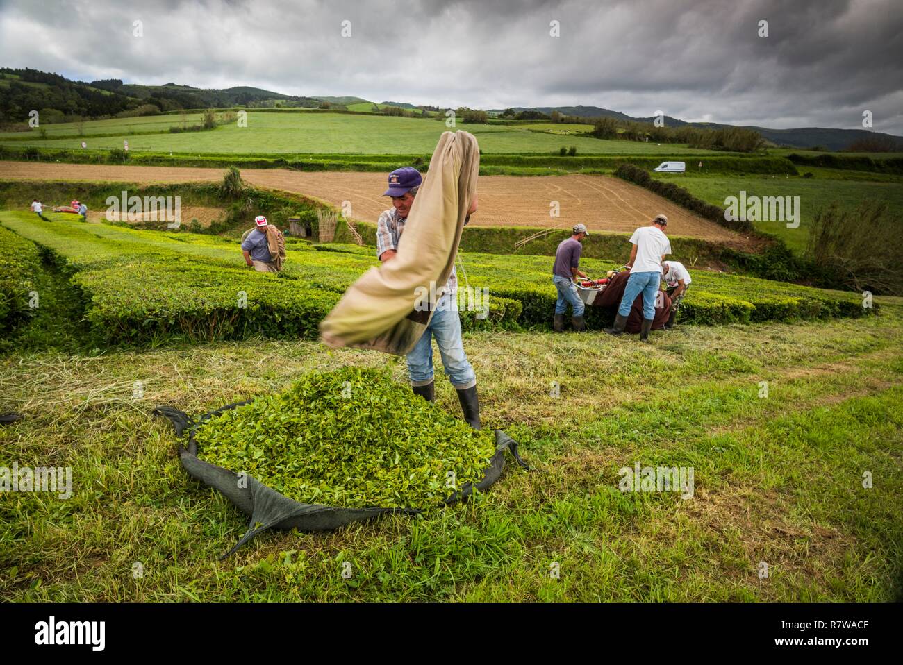
[[[224,411],[195,440],[211,464],[295,501],[345,508],[438,505],[479,482],[495,454],[491,430],[354,367],[305,374],[284,393]]]

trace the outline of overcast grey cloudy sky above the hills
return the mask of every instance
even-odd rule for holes
[[[0,0],[2,66],[377,102],[903,134],[901,62],[900,0]]]

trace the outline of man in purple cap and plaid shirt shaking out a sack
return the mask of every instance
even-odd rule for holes
[[[384,263],[391,261],[396,255],[398,240],[405,229],[408,213],[414,205],[414,197],[421,182],[423,179],[420,173],[410,166],[389,173],[389,189],[386,189],[383,196],[392,197],[392,208],[383,212],[377,222],[377,256]],[[474,199],[468,210],[468,216],[476,212],[476,209],[477,201]],[[429,402],[434,402],[436,392],[433,383],[433,337],[435,337],[445,374],[458,392],[464,420],[467,420],[473,429],[479,429],[477,375],[470,366],[461,341],[457,292],[458,275],[452,267],[452,274],[445,284],[442,298],[436,303],[433,319],[430,319],[424,336],[407,355],[407,374],[414,393]]]

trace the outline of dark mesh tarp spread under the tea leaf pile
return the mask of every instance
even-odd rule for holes
[[[176,436],[188,432],[187,446],[179,446],[179,459],[189,475],[200,480],[204,485],[209,485],[234,503],[242,513],[250,518],[250,524],[245,535],[237,542],[235,547],[229,550],[223,559],[235,552],[248,540],[254,538],[266,529],[298,529],[299,531],[329,531],[345,526],[350,522],[368,520],[385,513],[420,513],[417,508],[337,508],[328,505],[312,505],[300,503],[279,494],[274,489],[267,487],[253,476],[237,474],[221,466],[205,462],[198,457],[198,444],[194,440],[195,430],[205,420],[209,420],[228,409],[234,409],[249,402],[237,402],[228,404],[216,411],[204,413],[197,419],[192,419],[183,411],[171,406],[158,406],[154,412],[162,415],[172,422]],[[457,503],[466,500],[473,493],[474,487],[484,490],[492,485],[501,476],[505,467],[505,451],[509,450],[519,466],[529,469],[517,452],[517,442],[500,429],[496,429],[496,454],[490,461],[485,476],[476,485],[464,485],[461,490],[455,492],[444,503]]]

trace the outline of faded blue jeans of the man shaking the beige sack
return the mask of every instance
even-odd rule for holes
[[[461,341],[461,318],[452,304],[452,297],[442,296],[437,304],[433,319],[424,331],[423,337],[407,357],[407,374],[411,385],[428,385],[433,381],[433,337],[439,346],[445,375],[456,390],[464,390],[477,384],[477,375],[470,366],[464,343]]]

